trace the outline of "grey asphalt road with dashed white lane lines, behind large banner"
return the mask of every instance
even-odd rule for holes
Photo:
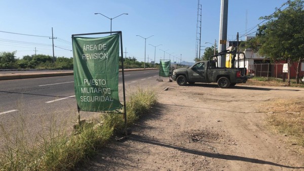
[[[156,81],[159,70],[125,72],[125,85],[141,85]],[[157,82],[157,81],[156,81]],[[122,73],[119,73],[119,94],[122,97]],[[0,81],[0,125],[11,127],[27,120],[34,132],[50,119],[76,118],[73,76],[56,76]],[[120,98],[123,101],[122,98]],[[82,114],[85,117],[88,114]],[[90,114],[91,116],[91,114]],[[37,126],[36,124],[41,124]],[[69,124],[69,123],[68,123]],[[71,124],[72,125],[72,124]]]

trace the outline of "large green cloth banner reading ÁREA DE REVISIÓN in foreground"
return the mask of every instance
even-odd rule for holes
[[[72,37],[74,90],[84,111],[121,109],[118,95],[120,35]]]

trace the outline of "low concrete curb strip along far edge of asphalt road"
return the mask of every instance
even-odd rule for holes
[[[128,71],[144,71],[144,70],[157,70],[159,68],[146,68],[146,69],[124,69],[125,72]],[[119,70],[122,72],[122,69]],[[40,72],[40,73],[0,73],[0,80],[12,80],[12,79],[27,79],[27,78],[41,78],[41,77],[52,77],[52,76],[67,76],[73,75],[73,71],[68,72]]]

